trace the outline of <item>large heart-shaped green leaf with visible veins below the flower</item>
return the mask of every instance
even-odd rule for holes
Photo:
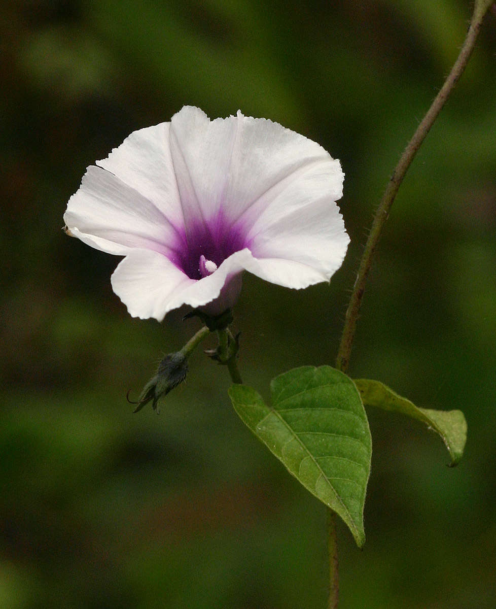
[[[270,388],[272,407],[246,385],[232,385],[229,396],[251,431],[362,546],[372,441],[354,382],[329,366],[306,366],[274,378]]]

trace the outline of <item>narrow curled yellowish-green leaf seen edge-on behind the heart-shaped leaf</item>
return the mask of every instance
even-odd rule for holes
[[[442,438],[450,453],[451,466],[458,465],[467,441],[467,421],[461,410],[428,410],[419,408],[407,398],[402,398],[380,381],[355,380],[365,406],[377,406],[383,410],[400,412],[425,423]]]

